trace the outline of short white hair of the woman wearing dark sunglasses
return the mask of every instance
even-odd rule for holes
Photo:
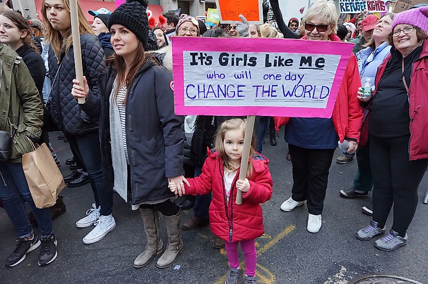
[[[337,10],[336,4],[333,0],[317,0],[315,1],[309,9],[307,9],[306,14],[303,16],[303,22],[307,23],[312,18],[319,16],[320,20],[329,24],[333,28],[333,32],[337,31]]]

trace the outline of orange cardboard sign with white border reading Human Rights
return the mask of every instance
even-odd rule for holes
[[[216,0],[220,23],[235,24],[243,15],[250,24],[263,24],[261,0]]]

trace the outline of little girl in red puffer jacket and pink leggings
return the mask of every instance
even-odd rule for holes
[[[227,270],[225,284],[238,282],[240,267],[238,242],[245,259],[245,283],[255,284],[257,253],[255,238],[263,234],[263,216],[260,203],[272,196],[272,178],[267,168],[268,160],[251,149],[247,178],[239,180],[246,120],[226,120],[218,129],[215,148],[210,151],[202,174],[187,179],[182,184],[169,183],[171,191],[182,194],[207,194],[212,191],[210,226],[213,233],[225,242]],[[253,137],[252,145],[255,139]],[[237,191],[242,191],[242,205],[236,205]]]

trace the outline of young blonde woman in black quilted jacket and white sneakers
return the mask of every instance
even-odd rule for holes
[[[83,238],[85,244],[93,244],[116,227],[112,216],[113,188],[106,186],[103,180],[98,137],[100,107],[97,79],[105,68],[104,52],[77,3],[81,33],[81,46],[78,48],[82,50],[83,71],[89,85],[85,103],[78,104],[71,95],[75,66],[69,2],[43,0],[42,7],[52,82],[49,112],[53,123],[65,134],[71,149],[88,170],[95,208],[89,209],[87,216],[76,222],[76,227],[95,224],[94,229]]]

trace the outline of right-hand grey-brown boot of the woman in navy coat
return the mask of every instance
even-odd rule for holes
[[[164,216],[164,218],[168,231],[168,246],[165,253],[159,258],[158,263],[156,263],[156,266],[159,268],[171,266],[183,249],[180,226],[181,213],[178,212],[174,216]]]

